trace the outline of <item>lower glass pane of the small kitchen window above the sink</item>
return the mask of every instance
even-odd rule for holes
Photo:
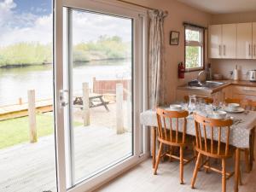
[[[186,68],[202,67],[201,47],[186,46]]]

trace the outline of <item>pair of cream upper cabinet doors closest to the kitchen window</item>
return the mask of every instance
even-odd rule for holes
[[[236,58],[236,24],[209,26],[209,58]]]

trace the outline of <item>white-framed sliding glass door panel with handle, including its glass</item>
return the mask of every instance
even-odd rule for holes
[[[64,144],[57,143],[59,188],[79,191],[143,154],[145,20],[137,10],[102,1],[67,1],[56,10],[56,137]]]

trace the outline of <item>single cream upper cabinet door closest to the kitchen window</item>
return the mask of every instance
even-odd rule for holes
[[[221,58],[221,36],[222,36],[222,26],[213,25],[209,26],[209,57],[210,58]]]

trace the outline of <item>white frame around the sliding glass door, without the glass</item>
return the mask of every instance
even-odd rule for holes
[[[133,144],[134,155],[130,158],[114,165],[111,169],[103,171],[91,177],[90,179],[78,183],[73,188],[68,189],[70,192],[84,192],[107,183],[108,180],[116,177],[125,170],[136,165],[147,158],[147,148],[143,148],[143,143],[148,143],[148,131],[142,129],[139,116],[143,109],[147,108],[147,11],[126,3],[120,3],[115,0],[55,0],[55,141],[56,141],[56,166],[57,166],[57,186],[59,192],[66,192],[67,186],[67,159],[65,159],[65,131],[64,131],[64,110],[61,108],[60,90],[63,90],[63,7],[74,9],[85,9],[90,11],[107,13],[110,15],[119,15],[132,18],[134,20],[134,44],[133,44]],[[114,8],[114,9],[113,9]],[[144,40],[144,41],[143,41]],[[67,144],[67,143],[66,143]],[[68,155],[68,154],[67,154]]]

